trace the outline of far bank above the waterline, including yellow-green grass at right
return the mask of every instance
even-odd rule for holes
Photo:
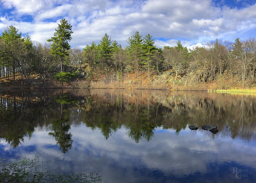
[[[145,73],[144,73],[145,74]],[[214,82],[190,84],[179,79],[177,84],[173,84],[173,77],[165,77],[163,75],[152,75],[150,82],[146,76],[140,78],[139,83],[135,74],[130,73],[129,77],[123,77],[122,81],[115,77],[106,79],[107,77],[100,77],[94,81],[86,79],[73,80],[70,83],[57,82],[54,79],[47,78],[46,82],[38,75],[32,75],[30,78],[30,87],[25,83],[22,88],[21,80],[13,80],[12,78],[0,78],[0,91],[3,90],[44,90],[44,89],[125,89],[125,90],[166,90],[166,91],[206,91],[211,93],[230,93],[230,94],[253,94],[256,95],[256,86],[242,88],[239,80],[231,82],[225,80]],[[225,84],[225,85],[224,85]]]

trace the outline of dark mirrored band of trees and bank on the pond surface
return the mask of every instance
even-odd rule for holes
[[[46,90],[44,93],[2,93],[0,137],[17,147],[34,128],[53,130],[66,153],[72,147],[70,126],[84,123],[99,128],[108,139],[122,126],[135,140],[150,140],[156,127],[215,125],[232,138],[255,139],[256,99],[207,92],[147,90]],[[214,137],[214,134],[209,134]]]

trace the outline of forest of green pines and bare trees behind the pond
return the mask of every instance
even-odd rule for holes
[[[19,80],[29,88],[32,75],[42,83],[54,79],[60,83],[104,80],[122,83],[133,74],[130,83],[137,88],[144,82],[150,88],[157,76],[167,73],[171,85],[197,86],[218,83],[225,89],[256,85],[256,40],[237,38],[233,43],[212,40],[205,47],[187,49],[179,40],[176,46],[157,48],[152,35],[136,31],[122,47],[105,34],[100,43],[92,42],[83,49],[71,47],[72,25],[61,19],[47,43],[34,43],[27,34],[22,37],[14,26],[8,26],[0,36],[0,79]],[[162,78],[162,83],[168,82]],[[83,86],[80,86],[83,88]]]

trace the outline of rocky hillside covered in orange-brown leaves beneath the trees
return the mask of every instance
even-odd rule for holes
[[[13,78],[1,78],[0,79],[0,89],[21,89],[22,83],[21,79],[16,77],[14,81]],[[175,74],[172,70],[165,71],[160,75],[155,73],[150,73],[150,81],[147,72],[140,72],[139,83],[137,82],[137,77],[135,73],[123,74],[122,78],[117,78],[114,73],[109,75],[100,74],[98,78],[94,78],[93,81],[88,81],[86,79],[73,80],[70,83],[60,83],[54,79],[47,78],[44,83],[44,79],[38,75],[31,75],[30,89],[41,89],[41,88],[122,88],[122,89],[160,89],[160,90],[216,90],[216,89],[232,89],[232,88],[242,88],[242,82],[240,78],[232,78],[230,76],[222,75],[216,78],[213,82],[207,83],[194,83],[195,76],[187,75],[180,77],[176,85],[174,84]],[[24,85],[24,88],[28,86]],[[249,88],[249,87],[247,87]],[[250,88],[256,88],[256,83],[254,82]]]

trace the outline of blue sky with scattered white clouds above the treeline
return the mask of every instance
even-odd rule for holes
[[[157,47],[188,48],[216,38],[256,37],[256,0],[0,0],[0,32],[15,26],[32,40],[45,43],[57,23],[73,26],[70,45],[100,43],[107,33],[123,47],[139,31],[151,34]]]

